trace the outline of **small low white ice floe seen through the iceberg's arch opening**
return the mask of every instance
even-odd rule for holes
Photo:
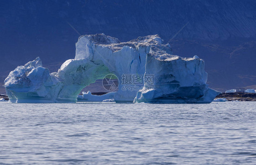
[[[102,102],[104,100],[111,100],[114,98],[116,92],[109,92],[105,95],[92,95],[90,91],[82,92],[82,95],[77,96],[78,102]],[[105,101],[106,102],[106,101]]]

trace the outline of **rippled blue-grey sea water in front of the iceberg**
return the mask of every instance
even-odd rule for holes
[[[0,164],[256,164],[256,102],[0,102]]]

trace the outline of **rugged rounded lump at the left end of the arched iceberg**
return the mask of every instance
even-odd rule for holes
[[[62,83],[56,73],[42,67],[41,59],[18,66],[5,79],[5,90],[12,103],[54,103]]]

